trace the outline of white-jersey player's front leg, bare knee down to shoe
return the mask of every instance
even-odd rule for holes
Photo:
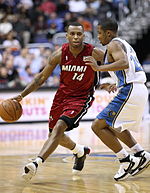
[[[116,175],[115,180],[126,179],[130,175],[130,171],[139,166],[140,160],[128,154],[128,152],[121,146],[116,135],[109,129],[105,120],[96,119],[92,124],[92,130],[107,145],[118,157],[120,168]]]

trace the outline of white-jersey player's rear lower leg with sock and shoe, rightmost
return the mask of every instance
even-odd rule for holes
[[[128,130],[124,130],[121,133],[116,132],[115,130],[112,131],[118,139],[120,139],[131,149],[131,151],[133,151],[135,157],[139,157],[141,159],[139,168],[133,170],[131,175],[134,176],[142,173],[150,165],[150,153],[145,151],[144,148],[137,143]]]

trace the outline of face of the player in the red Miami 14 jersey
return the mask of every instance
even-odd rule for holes
[[[66,35],[70,46],[74,48],[81,47],[84,39],[84,31],[82,26],[69,26]]]

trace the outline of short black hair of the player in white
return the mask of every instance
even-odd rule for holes
[[[118,24],[115,19],[107,18],[101,20],[98,25],[101,25],[103,30],[112,30],[114,32],[117,32],[118,30]]]

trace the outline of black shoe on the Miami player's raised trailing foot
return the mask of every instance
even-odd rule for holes
[[[75,156],[75,162],[74,162],[74,166],[72,169],[72,173],[73,174],[79,174],[81,172],[81,170],[84,167],[84,162],[86,159],[86,155],[90,154],[90,148],[89,147],[84,147],[84,154],[81,157],[78,157],[78,154],[74,154]]]

